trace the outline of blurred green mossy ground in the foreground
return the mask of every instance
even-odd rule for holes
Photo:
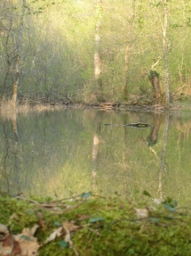
[[[16,235],[24,227],[39,224],[41,212],[45,227],[40,225],[35,236],[42,245],[39,255],[44,256],[191,255],[189,209],[179,209],[171,199],[157,205],[145,195],[139,202],[89,195],[43,203],[0,195],[0,222]],[[147,211],[147,216],[138,216],[136,209]],[[65,221],[77,227],[70,230],[72,245],[62,243],[64,235],[44,244]]]

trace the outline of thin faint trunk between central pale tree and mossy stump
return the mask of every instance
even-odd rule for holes
[[[136,0],[132,0],[132,13],[131,18],[129,19],[128,29],[127,29],[127,39],[126,39],[126,47],[124,54],[124,62],[125,62],[125,85],[123,87],[123,95],[124,100],[128,100],[128,84],[129,84],[129,56],[130,56],[130,37],[131,37],[131,29],[135,17],[135,2]]]

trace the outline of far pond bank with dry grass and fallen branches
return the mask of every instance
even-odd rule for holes
[[[165,109],[163,104],[144,104],[144,103],[72,103],[72,102],[49,102],[49,103],[18,103],[16,112],[27,113],[28,111],[58,111],[62,109],[99,109],[102,111],[134,111],[134,112],[155,112],[163,113],[165,111],[187,111],[191,110],[191,102],[171,103],[169,109]],[[9,116],[13,112],[12,101],[2,101],[0,104],[0,112],[2,116]],[[12,114],[11,114],[12,115]]]

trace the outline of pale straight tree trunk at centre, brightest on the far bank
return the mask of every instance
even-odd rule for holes
[[[96,84],[96,96],[99,102],[103,101],[103,87],[101,79],[100,59],[100,29],[102,16],[102,0],[97,0],[96,25],[95,25],[95,51],[94,51],[94,78]]]

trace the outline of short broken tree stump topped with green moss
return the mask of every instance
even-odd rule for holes
[[[159,82],[159,74],[155,70],[150,70],[148,78],[154,90],[155,103],[161,103],[162,93]]]

